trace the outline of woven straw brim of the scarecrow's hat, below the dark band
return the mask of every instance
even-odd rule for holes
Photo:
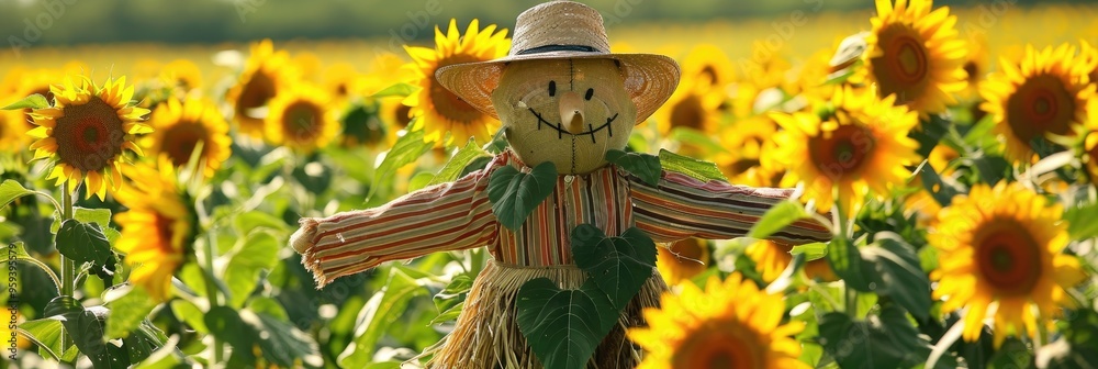
[[[601,52],[546,52],[511,55],[503,58],[456,64],[439,68],[435,78],[444,87],[494,119],[500,119],[492,107],[492,91],[500,86],[500,76],[507,63],[518,60],[595,58],[618,60],[625,77],[625,89],[637,105],[637,124],[645,122],[671,98],[679,86],[680,68],[674,59],[654,54],[608,54]]]

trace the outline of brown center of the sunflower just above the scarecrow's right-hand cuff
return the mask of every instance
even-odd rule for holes
[[[856,124],[840,125],[808,139],[816,168],[832,180],[849,178],[865,166],[873,149],[873,134]]]

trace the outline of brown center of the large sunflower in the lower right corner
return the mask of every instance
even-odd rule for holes
[[[1032,291],[1041,277],[1041,253],[1024,226],[999,224],[975,246],[979,275],[997,292],[1013,295]]]

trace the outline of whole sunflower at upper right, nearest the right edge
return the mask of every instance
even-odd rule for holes
[[[1030,143],[1046,134],[1073,135],[1072,125],[1086,122],[1088,83],[1086,64],[1068,44],[1037,52],[1027,46],[1021,63],[1000,59],[1000,71],[979,86],[986,100],[981,108],[995,119],[995,132],[1006,137],[1006,156],[1029,164]]]

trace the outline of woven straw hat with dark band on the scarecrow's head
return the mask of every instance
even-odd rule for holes
[[[612,54],[603,16],[573,1],[551,1],[518,14],[507,56],[439,68],[438,82],[478,110],[500,119],[492,107],[492,91],[509,62],[600,58],[617,60],[625,89],[637,105],[637,122],[660,108],[679,85],[679,64],[654,54]]]

